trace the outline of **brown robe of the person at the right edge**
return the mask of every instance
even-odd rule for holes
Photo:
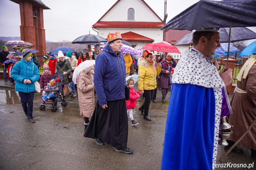
[[[254,64],[246,79],[237,82],[237,87],[247,93],[235,92],[231,99],[233,114],[229,116],[229,123],[234,125],[233,134],[228,140],[236,142],[256,118],[256,64]],[[256,124],[238,143],[240,146],[256,150]]]

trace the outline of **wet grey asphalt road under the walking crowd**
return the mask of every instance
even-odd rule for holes
[[[135,87],[136,88],[136,87]],[[137,102],[133,117],[139,124],[136,127],[128,122],[128,144],[134,149],[132,154],[116,152],[110,145],[97,145],[95,140],[83,137],[84,124],[80,116],[77,98],[67,101],[68,106],[57,105],[57,112],[46,105],[39,110],[41,96],[34,95],[34,119],[30,123],[25,116],[17,93],[13,88],[0,88],[0,169],[160,169],[163,150],[163,137],[168,102],[150,105],[151,122],[143,119]],[[160,95],[160,90],[158,90]],[[69,98],[69,95],[67,95]],[[220,158],[224,147],[218,147]],[[250,150],[244,153],[231,152],[217,163],[253,163]],[[175,153],[174,153],[175,154]],[[171,169],[171,167],[170,167]],[[248,168],[215,168],[248,169]]]

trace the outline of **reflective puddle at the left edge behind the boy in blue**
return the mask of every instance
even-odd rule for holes
[[[41,97],[41,95],[40,93],[35,93],[34,99],[38,96]],[[0,90],[0,104],[20,104],[19,92],[15,90]]]

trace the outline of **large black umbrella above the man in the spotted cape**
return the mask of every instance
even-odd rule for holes
[[[161,30],[256,26],[256,0],[201,0],[172,18]]]

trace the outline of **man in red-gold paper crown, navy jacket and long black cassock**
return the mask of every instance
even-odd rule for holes
[[[107,143],[117,152],[132,153],[127,147],[128,122],[125,101],[126,66],[120,52],[122,38],[119,32],[109,33],[109,43],[97,56],[94,87],[97,103],[84,137],[96,140],[98,145]]]

